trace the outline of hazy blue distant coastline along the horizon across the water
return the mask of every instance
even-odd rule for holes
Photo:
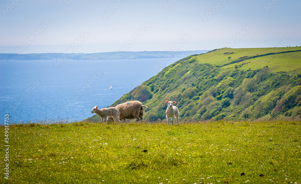
[[[185,58],[193,54],[202,54],[209,50],[195,51],[141,51],[141,52],[99,52],[99,53],[0,53],[0,60],[102,60],[102,59],[151,59],[151,58]]]

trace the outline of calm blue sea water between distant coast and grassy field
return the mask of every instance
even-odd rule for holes
[[[0,124],[7,113],[14,122],[91,117],[179,59],[0,60]]]

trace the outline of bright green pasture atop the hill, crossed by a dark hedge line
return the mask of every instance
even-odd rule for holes
[[[210,63],[212,65],[221,66],[231,61],[235,61],[243,56],[250,57],[250,56],[256,56],[257,54],[263,55],[268,53],[295,51],[300,49],[301,47],[243,48],[243,49],[222,48],[222,49],[217,49],[217,51],[214,52],[198,55],[197,59],[200,63]],[[234,53],[224,54],[225,52],[234,52]],[[231,56],[230,60],[228,59],[229,56]],[[252,64],[251,63],[246,64],[246,66],[243,65],[244,67],[240,69],[251,68],[252,70],[254,70],[268,65],[269,67],[274,69],[272,70],[273,72],[292,71],[292,70],[297,70],[301,67],[300,57],[301,57],[301,52],[284,53],[284,54],[253,58],[253,59],[246,60],[244,62],[240,62],[239,64],[250,62],[250,61],[252,63]],[[269,60],[267,62],[270,63],[265,62],[266,60]],[[234,65],[239,65],[239,64],[238,63],[230,64],[225,66],[224,68],[234,67]]]

